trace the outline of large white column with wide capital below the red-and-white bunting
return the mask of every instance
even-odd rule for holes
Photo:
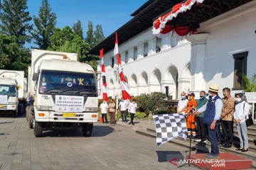
[[[205,62],[206,62],[206,40],[209,33],[194,34],[186,38],[191,42],[191,90],[195,94],[206,90]]]

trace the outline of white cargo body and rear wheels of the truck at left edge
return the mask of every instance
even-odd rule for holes
[[[27,100],[27,84],[26,78],[24,77],[23,71],[16,70],[6,70],[0,69],[0,77],[3,79],[15,79],[18,86],[18,95],[16,96],[18,100],[18,115],[23,115],[26,112],[26,100]]]

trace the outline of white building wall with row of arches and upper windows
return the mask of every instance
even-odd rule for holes
[[[220,91],[224,87],[232,89],[233,55],[245,51],[249,52],[247,76],[252,77],[256,74],[255,7],[256,1],[252,1],[201,23],[198,33],[208,33],[208,35],[205,42],[198,40],[196,45],[189,42],[189,38],[188,40],[177,40],[174,37],[156,38],[151,28],[119,45],[124,76],[130,87],[129,94],[137,96],[152,91],[165,93],[165,86],[169,86],[169,96],[176,99],[179,98],[181,91],[193,91],[198,97],[201,90],[208,91],[210,84],[218,84]],[[156,47],[161,51],[159,52]],[[137,49],[138,55],[135,61],[133,61],[134,49]],[[114,76],[117,67],[116,57],[114,57],[114,68],[110,67],[113,50],[107,52],[104,57],[108,95],[112,97],[117,94],[117,80]],[[147,50],[146,57],[144,57],[145,50]],[[141,51],[142,55],[139,56]],[[127,63],[125,54],[129,57]],[[100,64],[98,70],[101,70]],[[240,91],[233,90],[231,94],[234,96],[238,92]],[[223,96],[222,93],[220,96]]]

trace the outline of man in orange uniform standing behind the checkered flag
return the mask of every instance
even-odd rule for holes
[[[196,109],[196,101],[194,100],[195,98],[195,94],[191,93],[188,94],[188,103],[186,105],[186,110],[185,113],[188,114],[187,118],[186,118],[186,122],[187,122],[187,128],[188,128],[188,137],[190,137],[191,132],[193,135],[193,139],[196,138],[196,117],[195,115],[192,115],[191,113],[193,112],[193,109]]]

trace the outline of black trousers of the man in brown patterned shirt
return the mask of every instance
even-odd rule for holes
[[[223,129],[223,142],[228,145],[232,145],[234,132],[233,121],[220,120],[221,128]]]

